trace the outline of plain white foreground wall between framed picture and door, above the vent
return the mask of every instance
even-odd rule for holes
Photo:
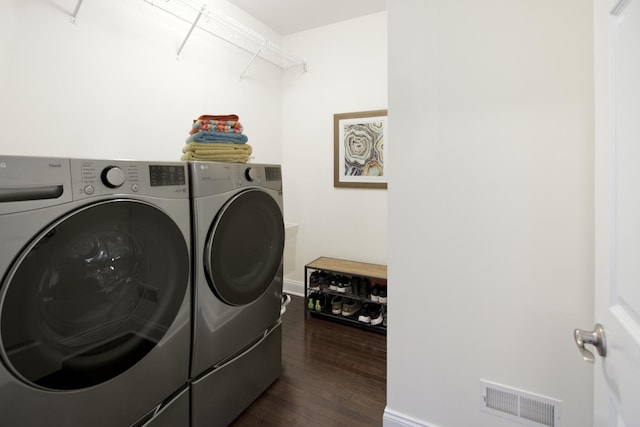
[[[480,379],[592,425],[591,2],[391,0],[385,425],[500,427]],[[402,143],[397,143],[402,141]]]

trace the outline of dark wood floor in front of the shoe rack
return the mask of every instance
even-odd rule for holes
[[[305,318],[303,300],[283,315],[280,378],[232,426],[381,426],[386,337]]]

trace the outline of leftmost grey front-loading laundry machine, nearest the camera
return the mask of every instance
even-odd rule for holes
[[[189,425],[188,184],[0,156],[0,425]]]

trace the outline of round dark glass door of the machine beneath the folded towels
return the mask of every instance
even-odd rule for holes
[[[211,290],[229,305],[257,300],[271,285],[284,251],[280,206],[264,191],[236,194],[213,221],[204,253]]]

